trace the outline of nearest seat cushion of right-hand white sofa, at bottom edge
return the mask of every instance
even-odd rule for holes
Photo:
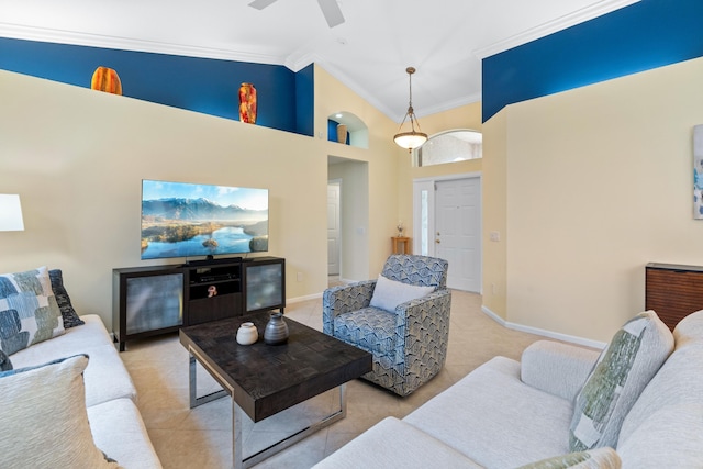
[[[314,469],[481,468],[436,438],[387,417],[313,467]]]

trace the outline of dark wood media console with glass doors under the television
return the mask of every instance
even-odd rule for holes
[[[253,257],[112,270],[112,332],[131,339],[286,308],[286,259]]]

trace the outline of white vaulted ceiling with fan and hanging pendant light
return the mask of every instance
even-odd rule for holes
[[[292,70],[314,62],[400,122],[408,66],[419,116],[480,101],[482,57],[636,1],[337,0],[344,22],[330,27],[330,0],[0,0],[0,36]]]

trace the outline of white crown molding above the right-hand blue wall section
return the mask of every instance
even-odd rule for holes
[[[510,48],[526,44],[531,41],[535,41],[558,31],[566,30],[567,27],[571,27],[577,24],[593,20],[594,18],[602,16],[603,14],[611,13],[615,10],[620,10],[621,8],[628,7],[639,1],[640,0],[603,0],[596,4],[583,8],[573,13],[558,18],[557,20],[540,24],[537,27],[533,27],[532,30],[527,30],[520,34],[515,34],[514,36],[510,36],[489,46],[477,48],[473,51],[473,55],[476,55],[480,59],[483,59],[501,52],[505,52]]]

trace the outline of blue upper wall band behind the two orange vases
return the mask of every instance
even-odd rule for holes
[[[312,66],[186,57],[0,37],[0,68],[90,88],[99,66],[116,70],[122,94],[239,120],[242,82],[257,90],[256,125],[313,135]]]

